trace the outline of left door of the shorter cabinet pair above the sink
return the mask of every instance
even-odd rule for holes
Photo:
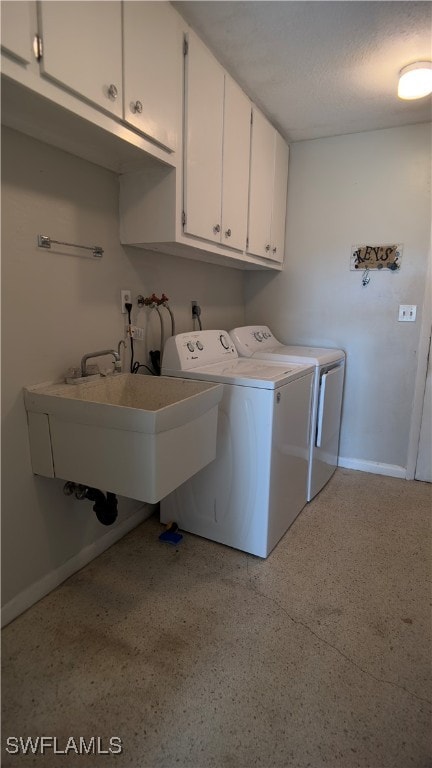
[[[120,0],[44,0],[39,14],[41,73],[122,117]]]

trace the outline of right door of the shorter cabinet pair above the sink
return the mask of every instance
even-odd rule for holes
[[[123,3],[124,118],[164,147],[177,149],[183,34],[167,2]]]

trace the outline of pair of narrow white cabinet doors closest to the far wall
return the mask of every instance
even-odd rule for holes
[[[247,251],[282,262],[288,184],[288,145],[253,108]]]

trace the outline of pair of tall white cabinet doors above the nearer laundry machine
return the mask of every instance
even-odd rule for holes
[[[250,102],[192,33],[185,73],[184,232],[244,250]]]

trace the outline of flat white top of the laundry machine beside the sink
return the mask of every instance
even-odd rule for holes
[[[289,381],[299,379],[314,370],[312,365],[267,362],[257,359],[237,358],[226,362],[194,367],[188,371],[162,368],[164,376],[180,376],[204,381],[219,381],[223,384],[236,384],[259,389],[276,389]]]

